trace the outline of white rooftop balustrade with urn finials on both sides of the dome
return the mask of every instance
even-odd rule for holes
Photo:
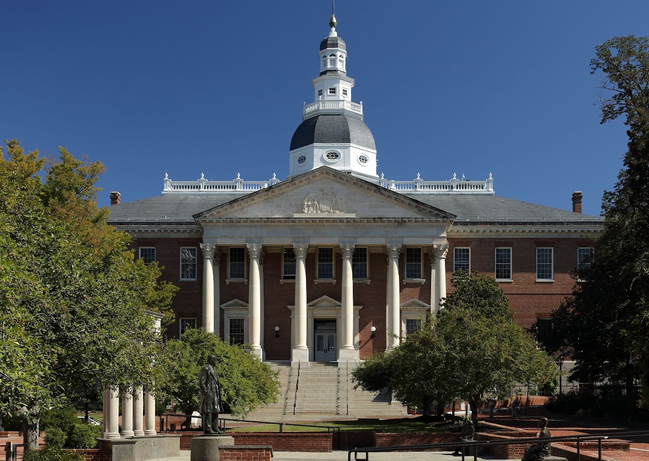
[[[167,175],[164,178],[162,193],[251,193],[273,186],[280,182],[275,173],[268,181],[243,181],[240,175],[232,181],[208,181],[201,175],[196,181],[171,181]],[[412,181],[390,181],[381,175],[376,184],[386,189],[400,193],[422,194],[458,194],[458,195],[494,195],[493,177],[484,181],[462,181],[453,175],[449,181],[424,181],[419,177]]]

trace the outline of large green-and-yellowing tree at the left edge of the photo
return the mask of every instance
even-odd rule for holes
[[[128,236],[104,223],[95,199],[101,164],[61,149],[43,181],[38,151],[25,154],[15,140],[6,145],[0,411],[21,416],[31,449],[42,408],[61,405],[75,388],[151,388],[159,339],[145,310],[168,309],[175,289],[157,284],[160,269],[134,260]]]

